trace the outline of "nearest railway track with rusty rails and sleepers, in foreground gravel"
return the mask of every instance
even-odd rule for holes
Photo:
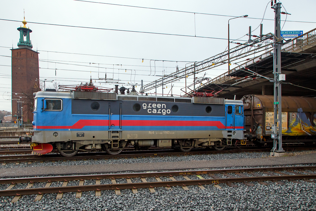
[[[188,186],[192,185],[205,189],[203,185],[214,185],[216,188],[222,188],[221,184],[227,184],[230,187],[238,187],[238,183],[255,186],[252,182],[258,182],[262,185],[270,185],[271,183],[282,185],[286,181],[316,183],[312,180],[316,179],[315,171],[316,166],[300,166],[12,178],[0,179],[0,184],[7,184],[8,186],[6,189],[0,190],[0,196],[15,196],[11,202],[17,202],[22,195],[36,195],[35,201],[38,201],[41,200],[43,194],[49,193],[57,193],[56,199],[60,199],[63,193],[67,192],[76,192],[76,198],[80,198],[83,191],[95,191],[95,195],[100,196],[101,190],[114,190],[115,194],[120,195],[120,190],[123,189],[131,189],[133,193],[137,193],[137,189],[148,188],[150,192],[155,192],[157,187],[170,189],[174,186],[181,186],[184,190],[188,190]],[[117,183],[116,179],[120,179],[120,182]],[[125,181],[124,183],[122,179]],[[91,180],[95,180],[95,182]],[[101,180],[103,180],[102,183]],[[148,180],[152,182],[148,182]],[[77,185],[67,186],[69,181],[76,181]],[[95,184],[84,185],[85,181]],[[52,183],[55,182],[63,182],[63,185],[51,187]],[[25,188],[12,189],[15,184],[21,183],[24,184]],[[34,183],[46,183],[46,185],[45,187],[32,188]]]

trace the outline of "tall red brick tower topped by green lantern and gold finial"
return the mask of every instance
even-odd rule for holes
[[[11,49],[12,121],[21,120],[23,115],[23,122],[32,122],[33,92],[40,91],[39,57],[38,53],[32,50],[32,30],[25,26],[25,17],[22,23],[24,26],[17,28],[20,31],[18,48]]]

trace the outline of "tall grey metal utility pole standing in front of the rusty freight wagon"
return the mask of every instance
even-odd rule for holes
[[[272,1],[271,1],[272,4]],[[273,74],[274,74],[274,124],[272,125],[271,138],[273,139],[273,148],[270,155],[282,156],[284,150],[282,148],[282,100],[281,100],[281,46],[283,40],[281,39],[281,3],[276,3],[273,7],[275,12],[275,37],[273,46]],[[278,124],[278,128],[277,128]],[[277,149],[277,141],[279,146]],[[282,154],[281,154],[282,153]]]

